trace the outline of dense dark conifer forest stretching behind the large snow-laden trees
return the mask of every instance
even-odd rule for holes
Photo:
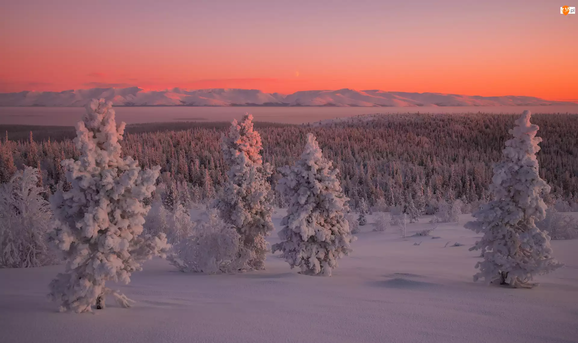
[[[263,140],[264,162],[292,165],[312,132],[323,154],[340,171],[351,207],[361,199],[369,206],[398,206],[423,193],[435,200],[477,203],[490,199],[492,165],[501,158],[507,132],[519,115],[389,114],[356,117],[320,125],[255,124]],[[539,114],[540,177],[549,182],[549,201],[578,202],[578,115]],[[212,199],[227,180],[221,135],[226,123],[156,123],[127,126],[123,153],[146,168],[161,166],[157,182],[188,189],[193,202]],[[46,132],[45,131],[45,135]],[[58,131],[61,132],[61,131]],[[0,181],[16,168],[40,167],[42,184],[50,192],[64,188],[60,161],[78,158],[70,138],[2,140]],[[74,135],[72,132],[71,135]],[[278,174],[268,182],[275,187]],[[170,186],[168,186],[170,187]],[[277,193],[277,206],[284,206]]]

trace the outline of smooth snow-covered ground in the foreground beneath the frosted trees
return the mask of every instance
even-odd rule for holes
[[[332,277],[300,275],[279,254],[265,271],[235,275],[183,274],[154,259],[117,287],[134,307],[110,299],[95,314],[59,313],[46,300],[60,266],[2,269],[0,342],[578,342],[578,240],[552,242],[566,267],[538,288],[486,286],[472,281],[479,252],[468,251],[469,219],[440,224],[440,238],[403,239],[396,226],[372,232],[368,215]],[[408,224],[407,235],[428,220]]]

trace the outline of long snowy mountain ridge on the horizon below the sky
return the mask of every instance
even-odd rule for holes
[[[92,98],[104,98],[114,106],[550,106],[578,105],[551,101],[533,96],[479,96],[442,93],[355,91],[299,91],[289,95],[264,93],[259,90],[213,88],[145,91],[139,87],[91,88],[62,92],[23,91],[0,93],[0,106],[84,106]]]

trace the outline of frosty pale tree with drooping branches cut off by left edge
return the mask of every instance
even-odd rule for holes
[[[39,267],[57,259],[46,241],[50,205],[37,185],[38,169],[18,170],[0,185],[0,268]]]

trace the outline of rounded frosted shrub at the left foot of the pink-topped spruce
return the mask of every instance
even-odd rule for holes
[[[168,260],[185,273],[214,274],[249,269],[250,256],[234,226],[210,210],[197,221],[193,234],[173,245]]]

